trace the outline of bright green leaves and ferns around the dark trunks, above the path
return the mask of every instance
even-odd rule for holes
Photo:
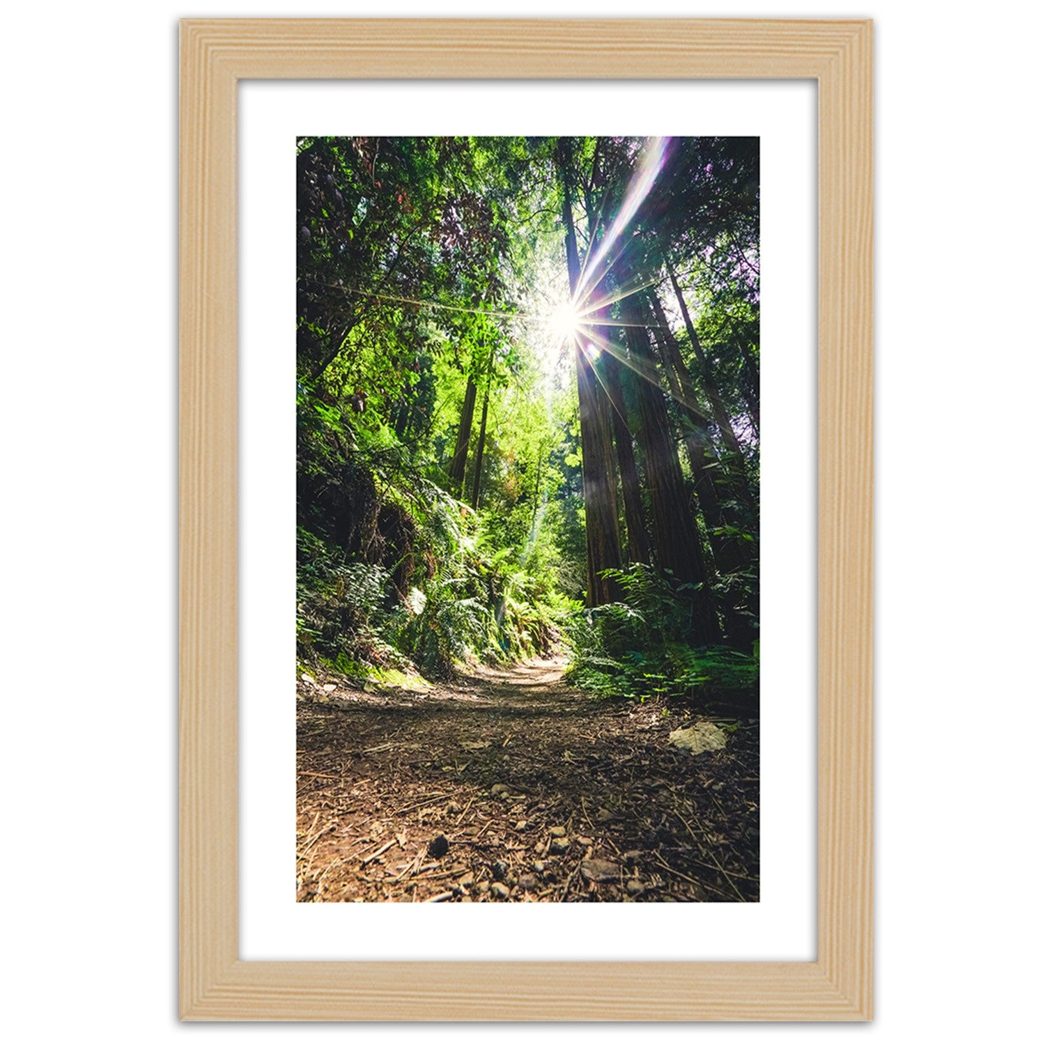
[[[565,632],[572,677],[594,692],[749,690],[757,661],[692,649],[695,589],[650,567],[614,574],[621,602],[581,608],[574,353],[538,322],[568,293],[556,147],[542,138],[298,140],[299,658],[361,679],[440,677],[475,658],[553,652]],[[642,147],[576,140],[583,205],[601,208],[603,225]],[[757,173],[753,139],[679,144],[629,248],[651,275],[657,252],[676,262],[732,416],[750,413],[758,392]],[[692,346],[683,350],[691,363]],[[470,429],[461,424],[469,385]],[[459,427],[463,483],[449,478]],[[741,431],[739,464],[757,478],[756,428]],[[464,501],[480,460],[472,510]],[[742,509],[730,517],[746,528],[716,539],[756,539],[757,518],[746,526]],[[757,608],[757,563],[744,561],[709,587],[734,618]]]

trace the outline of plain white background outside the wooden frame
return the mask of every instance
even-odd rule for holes
[[[15,1040],[534,1032],[176,1017],[176,19],[490,6],[98,0],[5,18],[0,897]],[[493,11],[878,20],[878,1017],[554,1026],[544,1041],[1038,1032],[1042,561],[1024,490],[1041,471],[1042,19],[1029,9],[534,0]]]

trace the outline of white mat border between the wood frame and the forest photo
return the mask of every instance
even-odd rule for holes
[[[815,86],[268,82],[239,103],[240,956],[815,958]],[[760,138],[760,903],[295,903],[294,145],[317,127]]]

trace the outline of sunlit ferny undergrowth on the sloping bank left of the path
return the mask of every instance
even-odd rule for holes
[[[542,563],[525,568],[497,548],[487,520],[393,433],[353,428],[299,386],[298,436],[299,661],[445,678],[477,659],[552,652],[578,604]]]

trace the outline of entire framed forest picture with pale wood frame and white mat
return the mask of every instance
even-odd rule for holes
[[[280,80],[350,88],[353,115],[280,122],[241,84]],[[795,136],[666,116],[722,82],[765,82],[748,111],[815,84],[818,220],[780,175],[812,172]],[[460,116],[481,90],[503,129]],[[512,115],[563,99],[572,122]],[[181,139],[182,1017],[869,1019],[870,23],[188,20]],[[815,943],[701,953],[691,914],[744,939],[791,897],[759,841],[758,370],[787,343],[760,332],[760,264],[779,301],[781,245],[814,224],[816,400],[792,412],[815,520],[797,484],[776,504],[789,583],[815,586]],[[291,792],[295,603],[298,802],[274,837],[296,812],[296,883],[253,826]],[[802,682],[773,663],[779,710]],[[627,699],[589,701],[607,689]],[[349,943],[257,944],[273,896]],[[392,926],[413,943],[378,944]]]

